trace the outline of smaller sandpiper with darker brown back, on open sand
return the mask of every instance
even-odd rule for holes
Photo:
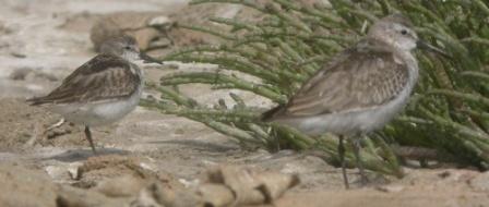
[[[28,99],[32,106],[46,106],[67,121],[85,126],[85,136],[96,154],[91,127],[112,123],[131,112],[143,92],[143,74],[132,63],[157,60],[140,52],[134,38],[112,37],[100,46],[100,53],[82,64],[61,86],[47,96]]]

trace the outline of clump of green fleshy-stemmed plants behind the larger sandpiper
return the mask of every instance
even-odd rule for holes
[[[373,21],[402,12],[412,19],[421,38],[452,59],[417,53],[421,74],[416,92],[402,114],[362,141],[366,168],[402,176],[404,158],[489,168],[488,2],[330,0],[330,5],[306,5],[293,0],[193,0],[191,4],[212,2],[240,4],[263,17],[252,22],[210,19],[227,26],[216,28],[180,24],[219,37],[222,42],[178,50],[163,60],[217,64],[220,72],[164,76],[160,83],[150,84],[160,99],[145,99],[143,106],[202,122],[243,146],[314,149],[329,155],[326,160],[334,163],[337,139],[331,135],[309,137],[294,129],[263,123],[258,118],[265,109],[249,106],[236,94],[229,94],[234,102],[220,99],[208,107],[178,87],[208,84],[214,89],[247,90],[285,104],[324,62],[365,35]],[[350,151],[347,162],[355,165]]]

